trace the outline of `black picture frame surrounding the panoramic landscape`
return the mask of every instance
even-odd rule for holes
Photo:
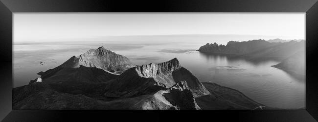
[[[0,0],[0,120],[46,121],[286,121],[318,120],[317,0]],[[14,12],[306,12],[305,110],[12,110]]]

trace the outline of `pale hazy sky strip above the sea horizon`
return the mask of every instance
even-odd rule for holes
[[[14,13],[14,41],[239,34],[305,39],[305,13]]]

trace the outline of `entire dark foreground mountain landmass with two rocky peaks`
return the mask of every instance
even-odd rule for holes
[[[13,109],[271,109],[201,83],[175,58],[141,66],[99,47],[13,88]]]

